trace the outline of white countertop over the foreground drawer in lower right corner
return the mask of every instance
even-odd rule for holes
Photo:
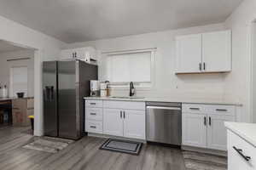
[[[225,122],[224,124],[230,131],[256,147],[256,123]]]

